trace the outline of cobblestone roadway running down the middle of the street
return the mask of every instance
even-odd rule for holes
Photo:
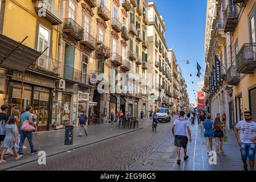
[[[90,146],[78,148],[12,170],[133,170],[171,136],[171,123],[159,123],[157,131],[148,127]]]

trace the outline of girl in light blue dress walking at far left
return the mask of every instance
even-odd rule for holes
[[[6,160],[3,160],[3,158],[8,148],[11,148],[11,150],[13,150],[16,160],[19,160],[20,158],[22,158],[22,155],[18,155],[15,149],[15,141],[16,141],[15,121],[16,121],[15,117],[10,117],[7,125],[5,125],[6,136],[2,143],[3,151],[1,155],[0,164],[6,163]]]

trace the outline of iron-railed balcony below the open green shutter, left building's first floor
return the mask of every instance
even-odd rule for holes
[[[63,78],[72,82],[78,82],[80,83],[82,81],[82,72],[74,69],[72,67],[63,66],[64,68],[64,75]]]

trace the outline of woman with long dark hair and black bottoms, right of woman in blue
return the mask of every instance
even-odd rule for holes
[[[220,152],[223,153],[224,150],[222,148],[223,145],[223,137],[224,132],[221,127],[221,120],[220,118],[215,118],[213,123],[213,129],[214,129],[214,138],[215,138],[215,144],[216,144],[216,153],[219,154]]]

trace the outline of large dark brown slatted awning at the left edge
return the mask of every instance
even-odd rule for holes
[[[24,46],[22,42],[16,42],[0,34],[0,67],[25,72],[42,54]]]

